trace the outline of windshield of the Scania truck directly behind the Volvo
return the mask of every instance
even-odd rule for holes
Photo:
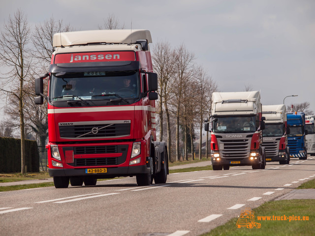
[[[255,132],[255,117],[216,117],[212,129],[216,133]]]

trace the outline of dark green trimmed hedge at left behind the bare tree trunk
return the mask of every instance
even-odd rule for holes
[[[25,140],[27,172],[39,172],[37,143]],[[21,140],[0,137],[0,173],[21,172]]]

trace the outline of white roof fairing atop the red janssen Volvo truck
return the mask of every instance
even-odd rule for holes
[[[135,43],[147,40],[152,43],[151,33],[146,29],[102,29],[55,33],[53,47],[82,45],[88,43]]]

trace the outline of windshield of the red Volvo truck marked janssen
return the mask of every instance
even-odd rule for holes
[[[122,97],[138,98],[139,73],[133,71],[106,71],[53,74],[50,83],[50,99],[99,100]]]

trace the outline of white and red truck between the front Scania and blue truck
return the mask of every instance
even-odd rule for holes
[[[265,129],[262,132],[262,147],[266,150],[266,162],[279,161],[280,164],[289,164],[290,154],[287,146],[286,108],[281,105],[263,105],[262,116],[265,120]]]

